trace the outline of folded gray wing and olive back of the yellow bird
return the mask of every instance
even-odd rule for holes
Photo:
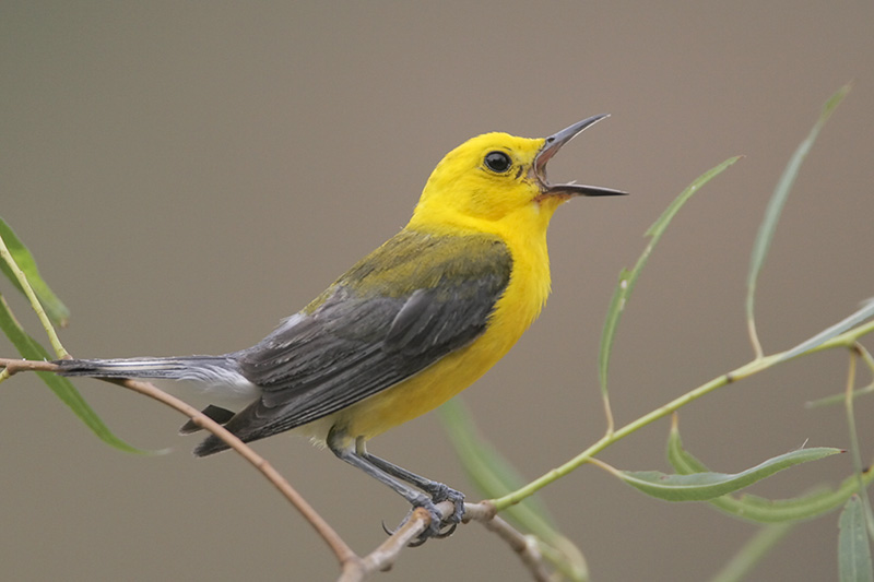
[[[401,231],[237,354],[243,375],[263,392],[225,427],[244,441],[261,439],[414,376],[485,331],[511,266],[493,237]],[[194,452],[224,448],[210,437]]]

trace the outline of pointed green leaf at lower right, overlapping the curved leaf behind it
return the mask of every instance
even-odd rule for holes
[[[665,475],[659,471],[623,471],[618,472],[618,476],[628,485],[665,501],[707,501],[743,489],[793,465],[839,452],[840,449],[827,447],[800,449],[734,474],[708,472]]]

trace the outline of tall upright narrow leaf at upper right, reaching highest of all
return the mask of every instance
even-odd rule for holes
[[[849,91],[850,85],[840,87],[840,90],[829,97],[829,99],[823,106],[823,110],[819,114],[819,119],[817,119],[807,138],[801,142],[798,150],[795,150],[795,153],[792,154],[792,157],[789,159],[789,164],[787,164],[782,176],[780,176],[780,180],[777,182],[773,194],[771,194],[771,199],[768,202],[768,207],[765,210],[765,217],[761,221],[758,235],[756,236],[756,241],[753,245],[753,253],[749,259],[749,272],[747,273],[746,280],[746,319],[748,322],[753,322],[755,318],[755,295],[758,274],[761,271],[761,265],[765,263],[765,258],[768,256],[768,249],[770,248],[771,240],[773,239],[773,233],[777,230],[777,223],[780,219],[780,214],[782,213],[786,201],[789,198],[789,192],[792,190],[792,185],[795,182],[795,178],[799,175],[799,169],[801,168],[804,158],[810,153],[811,147],[813,147],[813,143],[816,141],[816,136],[819,134],[819,131],[826,124],[828,118],[831,117],[835,108],[840,104],[843,97],[847,96]]]

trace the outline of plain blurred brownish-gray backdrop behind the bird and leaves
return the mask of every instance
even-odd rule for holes
[[[464,394],[483,435],[530,477],[604,430],[598,341],[623,266],[696,176],[745,158],[672,224],[616,340],[618,423],[752,357],[748,256],[768,197],[825,99],[852,81],[801,173],[763,272],[767,352],[874,295],[871,2],[178,2],[0,4],[0,215],[72,309],[81,357],[223,353],[261,338],[409,218],[432,168],[485,131],[545,136],[613,117],[566,147],[554,179],[628,190],[553,221],[553,297]],[[23,323],[35,318],[10,298]],[[869,344],[874,342],[869,341]],[[872,347],[872,345],[869,345]],[[0,353],[12,355],[0,341]],[[734,472],[802,446],[847,447],[847,356],[793,361],[684,408],[688,448]],[[860,381],[867,381],[860,372]],[[194,460],[184,420],[78,381],[126,440],[102,444],[33,377],[0,390],[0,565],[8,580],[331,580],[333,558],[240,459]],[[872,403],[858,403],[865,458]],[[668,421],[611,448],[666,470]],[[406,512],[306,441],[257,444],[358,551]],[[371,451],[470,485],[436,415]],[[754,488],[835,484],[849,455]],[[472,495],[476,498],[476,495]],[[645,498],[594,467],[543,491],[597,580],[704,580],[755,531],[701,504]],[[753,580],[836,578],[837,514],[800,525]],[[479,525],[406,551],[385,579],[527,580]]]

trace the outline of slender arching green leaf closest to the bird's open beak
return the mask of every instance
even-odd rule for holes
[[[622,273],[619,273],[619,283],[616,286],[616,290],[613,293],[613,298],[610,301],[607,317],[604,321],[604,329],[601,333],[601,352],[599,355],[598,372],[601,381],[601,393],[605,396],[607,392],[610,354],[613,349],[613,338],[616,334],[616,326],[619,323],[619,318],[625,309],[625,305],[628,302],[628,297],[631,295],[631,290],[637,282],[637,277],[643,270],[643,265],[647,264],[647,259],[649,259],[652,249],[656,247],[656,244],[659,241],[662,234],[664,234],[664,230],[668,228],[668,225],[671,223],[673,217],[677,212],[680,212],[680,209],[683,207],[683,204],[685,204],[695,192],[700,190],[704,185],[716,178],[725,168],[737,162],[740,158],[741,156],[729,158],[722,164],[705,171],[698,176],[695,181],[693,181],[685,190],[683,190],[683,192],[681,192],[680,195],[676,197],[674,201],[671,202],[671,204],[665,209],[662,215],[659,216],[659,219],[656,221],[652,226],[649,227],[649,229],[647,229],[645,236],[652,238],[649,241],[649,245],[647,245],[647,248],[643,249],[643,253],[637,260],[634,269],[630,271],[623,269]]]

